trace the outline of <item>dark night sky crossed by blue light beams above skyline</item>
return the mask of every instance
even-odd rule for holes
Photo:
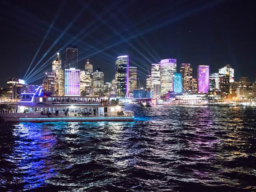
[[[29,72],[41,67],[31,78],[37,79],[31,84],[41,84],[56,51],[64,66],[69,44],[78,47],[79,69],[89,58],[105,81],[113,79],[119,55],[129,55],[144,86],[151,63],[166,58],[177,59],[177,68],[191,63],[194,77],[200,64],[210,65],[210,73],[230,64],[235,80],[254,81],[254,2],[1,0],[0,86],[6,87],[7,78],[24,78],[40,45]]]

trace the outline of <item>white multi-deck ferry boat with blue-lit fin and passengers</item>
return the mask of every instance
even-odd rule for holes
[[[84,122],[133,121],[132,111],[122,111],[118,101],[95,96],[40,96],[42,87],[34,94],[24,93],[13,113],[0,113],[11,122]],[[103,102],[104,100],[104,102]]]

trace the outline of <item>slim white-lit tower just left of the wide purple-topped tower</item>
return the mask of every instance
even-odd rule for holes
[[[153,97],[159,96],[161,84],[161,73],[160,73],[160,64],[151,65],[151,87],[153,92]]]

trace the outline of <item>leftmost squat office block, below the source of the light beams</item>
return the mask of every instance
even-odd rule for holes
[[[30,87],[26,82],[18,78],[7,79],[7,99],[10,102],[17,102],[20,100],[21,93],[29,93]]]

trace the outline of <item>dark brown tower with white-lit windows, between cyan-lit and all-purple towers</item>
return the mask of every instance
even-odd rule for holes
[[[189,63],[180,64],[180,73],[182,75],[182,86],[188,92],[192,92],[192,65]]]

